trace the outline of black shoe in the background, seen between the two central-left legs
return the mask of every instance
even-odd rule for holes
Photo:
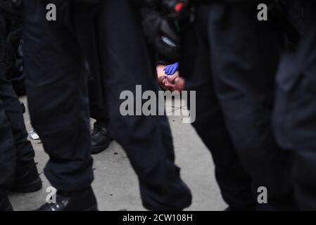
[[[106,150],[110,145],[112,139],[106,131],[106,125],[103,123],[95,122],[94,130],[91,134],[91,154],[101,153]]]

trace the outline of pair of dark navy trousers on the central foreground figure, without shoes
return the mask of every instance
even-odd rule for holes
[[[30,0],[25,4],[27,94],[32,124],[50,155],[44,172],[53,186],[74,191],[89,186],[93,178],[87,82],[80,74],[77,40],[60,12],[69,1],[58,1],[56,22],[45,20],[45,2]],[[109,0],[102,1],[98,20],[110,135],[126,150],[147,209],[187,207],[191,193],[174,163],[167,118],[120,114],[121,91],[134,93],[136,84],[143,90],[157,90],[139,17],[129,1]]]

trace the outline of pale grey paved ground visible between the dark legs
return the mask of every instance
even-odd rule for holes
[[[27,105],[25,98],[21,101]],[[166,103],[167,113],[179,108]],[[214,177],[213,161],[206,146],[198,138],[190,124],[183,124],[182,118],[170,115],[177,165],[182,168],[182,177],[193,193],[193,203],[187,210],[223,210],[220,191]],[[93,121],[91,121],[92,123]],[[30,131],[30,117],[25,113],[27,131]],[[44,188],[31,194],[11,194],[15,210],[33,210],[46,200],[46,187],[50,186],[42,173],[47,161],[40,141],[32,141],[39,172]],[[137,176],[121,146],[113,141],[108,150],[94,156],[95,180],[92,184],[99,203],[99,210],[145,210],[141,205]]]

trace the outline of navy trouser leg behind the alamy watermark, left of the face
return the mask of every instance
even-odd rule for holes
[[[144,207],[182,210],[191,204],[191,193],[174,162],[167,117],[120,113],[122,91],[132,91],[135,96],[139,84],[143,91],[158,92],[157,81],[153,79],[156,66],[149,60],[137,10],[129,1],[103,1],[99,32],[110,136],[125,149],[139,177]]]

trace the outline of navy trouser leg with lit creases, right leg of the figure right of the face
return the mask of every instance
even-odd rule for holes
[[[274,141],[271,126],[279,45],[270,25],[260,23],[256,12],[255,7],[248,5],[198,7],[197,54],[204,63],[198,63],[194,72],[199,74],[194,77],[194,88],[201,91],[201,98],[197,97],[201,109],[196,117],[202,120],[210,112],[211,105],[205,101],[198,103],[202,93],[208,93],[203,99],[212,99],[210,94],[213,94],[255,191],[259,186],[267,188],[268,204],[260,205],[258,209],[287,210],[293,208],[291,176],[286,160],[282,158],[282,149]],[[202,120],[198,129],[203,133],[215,128],[206,127]],[[210,137],[205,136],[205,139]],[[229,136],[226,139],[228,142]],[[212,146],[210,149],[215,150]],[[233,157],[232,150],[228,154]],[[246,186],[246,182],[243,184]]]

